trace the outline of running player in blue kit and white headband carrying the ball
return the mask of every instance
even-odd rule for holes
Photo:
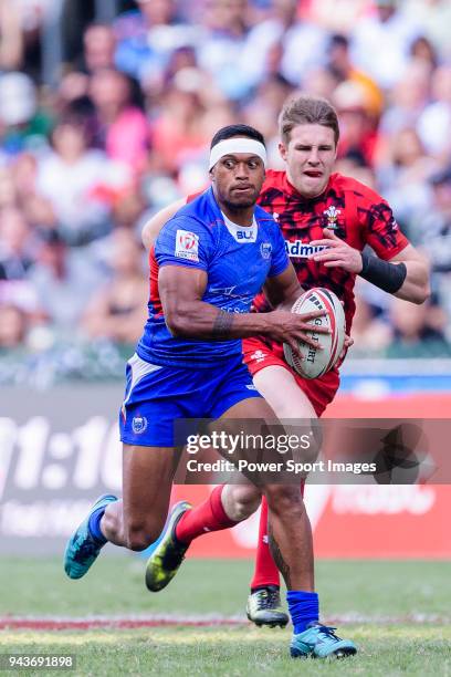
[[[232,125],[218,132],[210,152],[212,186],[158,236],[148,321],[127,364],[120,412],[123,498],[98,499],[70,539],[64,566],[71,579],[88,571],[107,541],[139,551],[160,535],[178,459],[176,419],[276,418],[242,364],[241,338],[263,335],[295,351],[300,340],[314,345],[307,323],[321,311],[249,312],[262,287],[274,308],[293,303],[302,293],[279,226],[255,206],[265,163],[264,140],[256,129]],[[202,529],[226,529],[247,519],[262,494],[269,506],[272,552],[289,591],[292,656],[354,654],[352,642],[318,622],[317,595],[310,590],[303,564],[311,537],[298,486],[218,487],[203,510]],[[176,506],[165,527],[164,567],[147,567],[153,590],[169,582],[188,549],[176,535],[186,509],[186,503]]]

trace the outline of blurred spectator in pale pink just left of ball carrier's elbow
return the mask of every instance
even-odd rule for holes
[[[111,280],[92,298],[82,325],[90,338],[135,344],[147,316],[148,283],[143,252],[129,230],[118,228],[111,242]]]

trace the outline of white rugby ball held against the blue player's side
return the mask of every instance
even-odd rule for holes
[[[300,352],[304,358],[300,360],[290,345],[283,344],[286,362],[304,378],[317,378],[332,369],[345,343],[346,319],[338,296],[328,289],[315,287],[297,299],[291,312],[310,313],[315,310],[325,310],[327,314],[311,320],[308,324],[312,324],[313,327],[327,326],[332,330],[331,334],[317,334],[315,331],[311,334],[312,338],[321,343],[323,348],[312,347],[300,341]]]

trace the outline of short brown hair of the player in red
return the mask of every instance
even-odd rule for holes
[[[322,125],[334,132],[335,145],[339,139],[338,116],[334,106],[322,96],[301,94],[289,98],[279,116],[279,132],[284,144],[290,143],[290,134],[297,125]]]

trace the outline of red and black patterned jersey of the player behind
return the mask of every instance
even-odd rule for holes
[[[391,208],[377,192],[353,178],[333,174],[326,190],[316,198],[303,198],[290,184],[285,171],[269,169],[259,205],[279,222],[290,259],[305,289],[325,287],[345,304],[347,333],[355,312],[356,275],[340,268],[325,268],[308,256],[313,240],[323,238],[323,229],[333,230],[350,247],[361,251],[369,244],[377,256],[390,260],[407,244]],[[254,302],[255,310],[268,309],[264,295]]]

